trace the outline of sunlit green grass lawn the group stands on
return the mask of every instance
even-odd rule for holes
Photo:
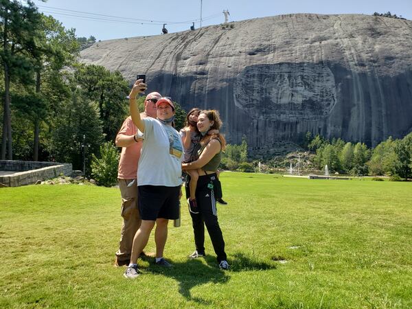
[[[142,275],[113,267],[115,188],[31,185],[0,189],[0,308],[412,308],[412,183],[221,174],[218,206],[231,271],[207,236],[194,250],[170,224],[165,258]],[[151,237],[146,251],[154,251]],[[279,262],[285,260],[287,262]]]

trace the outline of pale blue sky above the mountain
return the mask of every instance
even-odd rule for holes
[[[21,0],[24,1],[24,0]],[[76,36],[95,36],[97,40],[161,34],[163,23],[169,33],[242,21],[265,16],[294,13],[367,14],[391,12],[412,20],[412,0],[33,0],[41,12],[54,16]]]

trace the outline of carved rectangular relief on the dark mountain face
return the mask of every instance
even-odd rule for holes
[[[319,120],[336,104],[336,84],[322,64],[251,65],[236,77],[233,98],[254,118]]]

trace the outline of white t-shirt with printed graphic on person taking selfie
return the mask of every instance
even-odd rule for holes
[[[137,185],[181,185],[183,144],[179,133],[157,119],[142,120],[144,141],[137,168]]]

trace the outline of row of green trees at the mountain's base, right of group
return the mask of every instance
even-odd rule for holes
[[[264,171],[284,171],[289,168],[291,160],[293,165],[297,165],[297,157],[301,157],[302,171],[308,168],[324,171],[325,165],[328,165],[331,173],[390,176],[392,180],[412,179],[412,133],[402,139],[389,137],[375,148],[368,148],[361,142],[352,143],[340,138],[328,140],[308,132],[301,147],[306,152],[262,160]],[[258,170],[258,161],[249,158],[246,137],[243,137],[242,144],[227,145],[220,168],[254,172]]]

